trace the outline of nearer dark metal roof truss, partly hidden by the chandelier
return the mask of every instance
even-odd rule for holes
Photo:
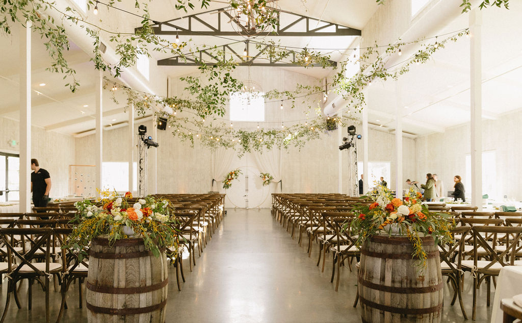
[[[274,31],[262,33],[249,32],[230,14],[230,7],[206,11],[152,25],[159,36],[361,36],[361,30],[333,22],[319,21],[312,17],[301,16],[289,11],[278,10],[279,24]],[[232,27],[235,24],[235,29]],[[136,32],[140,28],[136,28]]]

